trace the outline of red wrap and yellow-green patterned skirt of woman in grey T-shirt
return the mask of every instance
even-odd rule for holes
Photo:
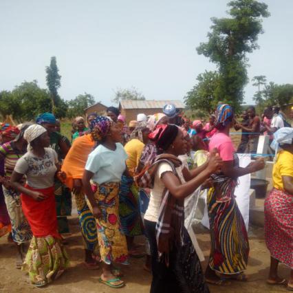
[[[34,189],[28,185],[25,187],[39,191],[47,197],[37,202],[29,195],[21,194],[23,213],[34,235],[23,270],[28,272],[33,284],[50,283],[69,266],[69,259],[58,233],[54,186],[45,189]]]

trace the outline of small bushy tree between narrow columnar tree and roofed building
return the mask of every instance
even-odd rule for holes
[[[94,96],[91,94],[78,95],[73,100],[67,102],[67,117],[74,118],[76,116],[83,116],[85,109],[91,105],[95,104]]]

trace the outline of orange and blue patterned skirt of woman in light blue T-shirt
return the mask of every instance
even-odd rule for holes
[[[102,211],[102,217],[96,219],[96,224],[102,261],[107,264],[122,263],[127,265],[127,242],[119,218],[119,188],[118,182],[97,185],[94,197]],[[89,207],[91,208],[91,206]]]

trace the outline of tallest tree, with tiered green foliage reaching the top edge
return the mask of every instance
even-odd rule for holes
[[[228,7],[229,18],[211,19],[208,41],[197,47],[197,53],[217,65],[217,95],[239,109],[243,87],[248,83],[246,54],[258,48],[257,39],[263,33],[261,18],[269,17],[270,13],[265,3],[255,0],[230,1]]]

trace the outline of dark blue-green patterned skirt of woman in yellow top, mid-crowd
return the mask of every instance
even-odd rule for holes
[[[122,175],[119,193],[119,215],[124,235],[130,237],[144,234],[138,201],[138,186],[135,185],[132,177]]]

